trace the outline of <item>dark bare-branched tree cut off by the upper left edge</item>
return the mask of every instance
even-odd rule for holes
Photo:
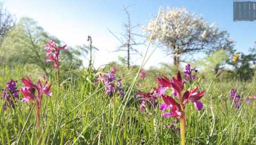
[[[0,3],[0,45],[7,32],[15,25],[14,16],[9,13]]]

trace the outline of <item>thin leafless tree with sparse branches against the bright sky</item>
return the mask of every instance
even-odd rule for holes
[[[131,65],[131,55],[138,54],[138,50],[134,48],[136,45],[141,45],[143,43],[135,41],[136,35],[133,31],[138,25],[132,25],[131,23],[131,14],[127,10],[129,6],[123,7],[127,21],[123,23],[124,32],[121,33],[121,37],[116,36],[113,32],[109,30],[109,32],[121,43],[121,45],[114,52],[126,52],[127,55],[125,57],[125,61],[127,63],[127,68],[130,68]]]

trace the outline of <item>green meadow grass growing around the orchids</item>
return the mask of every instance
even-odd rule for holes
[[[21,88],[20,79],[30,72],[29,69],[34,71],[29,76],[36,81],[41,72],[33,67],[2,68],[0,88],[11,78],[18,80]],[[94,85],[94,75],[85,70],[61,72],[60,88],[54,75],[49,76],[53,82],[53,96],[43,97],[42,134],[38,144],[179,144],[179,135],[164,127],[175,118],[162,118],[159,106],[147,108],[142,114],[139,101],[135,99],[138,87],[134,84],[140,82],[141,90],[149,91],[156,87],[155,79],[161,72],[148,71],[145,80],[135,79],[137,82],[133,84],[138,68],[128,71],[119,67],[118,70],[119,76],[125,74],[124,99],[107,97],[103,86]],[[203,74],[207,72],[199,76]],[[247,95],[255,93],[255,81],[227,82],[199,77],[194,86],[205,89],[206,95],[200,112],[191,103],[186,107],[186,144],[256,144],[255,101],[252,105],[244,103],[236,110],[229,99],[230,89],[236,88],[244,101]],[[158,102],[161,104],[162,99]],[[0,103],[2,108],[3,101]],[[0,144],[37,144],[33,103],[19,100],[15,105],[16,109],[0,109]]]

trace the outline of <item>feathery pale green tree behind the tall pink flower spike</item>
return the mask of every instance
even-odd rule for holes
[[[13,27],[1,46],[1,60],[6,65],[36,64],[46,72],[44,46],[49,35],[37,22],[30,18],[21,18]]]

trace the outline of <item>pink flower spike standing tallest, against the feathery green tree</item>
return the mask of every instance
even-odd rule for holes
[[[68,51],[68,49],[65,49],[67,45],[63,45],[61,47],[57,47],[56,43],[53,40],[50,40],[49,42],[47,42],[46,44],[46,56],[48,57],[48,59],[46,59],[46,63],[49,62],[53,62],[53,67],[59,70],[59,54],[60,54],[60,50],[66,50]]]

